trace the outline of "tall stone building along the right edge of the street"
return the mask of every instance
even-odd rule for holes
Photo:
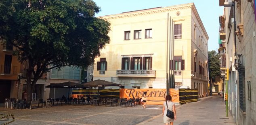
[[[238,125],[256,123],[255,0],[219,0],[224,6],[226,68],[229,70],[228,109]]]

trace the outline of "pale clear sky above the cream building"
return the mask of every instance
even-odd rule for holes
[[[218,6],[218,0],[94,0],[94,2],[101,7],[101,12],[96,16],[193,2],[210,38],[208,50],[218,49],[218,16],[223,14],[223,7]]]

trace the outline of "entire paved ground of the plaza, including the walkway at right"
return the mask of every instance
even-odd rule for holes
[[[176,106],[174,125],[235,125],[225,117],[225,104],[218,96]],[[10,125],[163,125],[162,105],[147,109],[136,107],[55,106],[38,109],[13,109],[0,112],[14,114]]]

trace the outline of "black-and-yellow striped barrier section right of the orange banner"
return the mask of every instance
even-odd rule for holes
[[[187,102],[196,102],[198,100],[197,89],[179,89],[180,104]]]

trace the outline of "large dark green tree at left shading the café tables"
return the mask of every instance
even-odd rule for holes
[[[95,17],[99,11],[92,0],[0,0],[0,41],[17,48],[20,62],[28,61],[27,102],[50,69],[85,67],[100,55],[110,23]]]

